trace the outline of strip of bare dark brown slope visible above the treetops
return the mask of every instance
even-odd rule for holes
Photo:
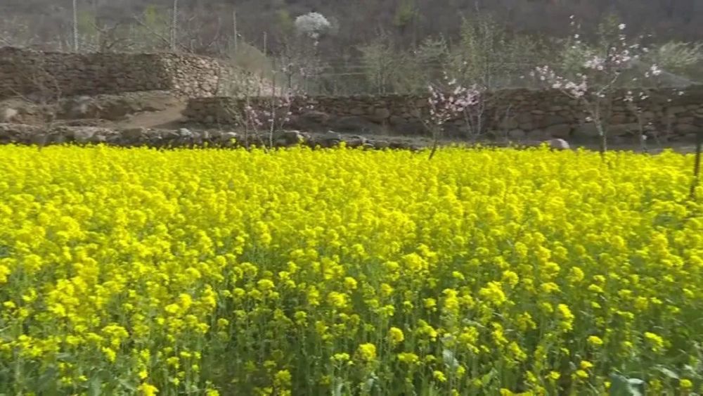
[[[70,34],[70,1],[4,0],[0,4],[3,24],[15,18],[29,20],[27,30],[50,37],[65,30]],[[129,20],[148,6],[172,7],[172,0],[78,0],[79,9],[103,20]],[[494,13],[511,30],[540,34],[564,34],[568,16],[575,14],[586,25],[595,25],[605,13],[621,16],[633,31],[678,39],[703,39],[703,1],[699,0],[179,0],[188,23],[217,27],[231,34],[231,15],[236,9],[238,28],[246,37],[269,33],[271,42],[290,28],[291,19],[318,11],[335,22],[336,38],[355,44],[374,37],[382,28],[412,39],[458,31],[463,15],[477,10]],[[7,26],[4,26],[7,27]],[[5,31],[4,31],[5,30]],[[11,34],[0,27],[1,34]]]

